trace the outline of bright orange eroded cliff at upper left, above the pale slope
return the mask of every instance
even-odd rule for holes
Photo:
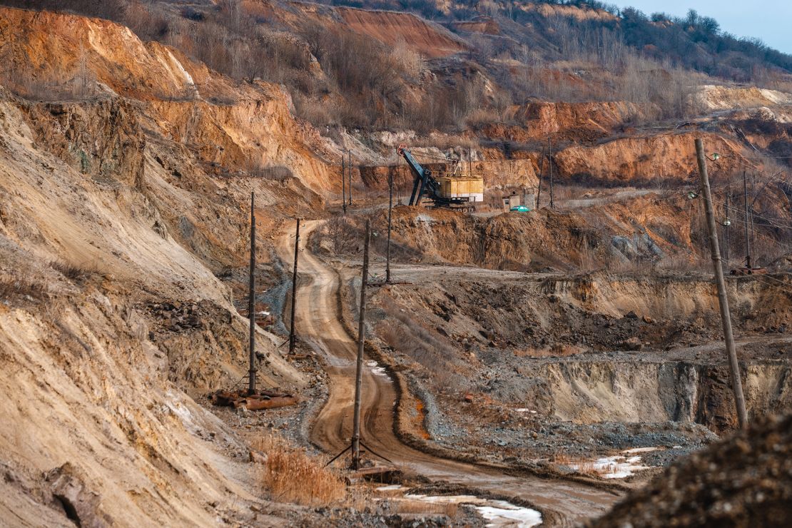
[[[116,116],[119,126],[143,127],[154,133],[149,141],[184,145],[208,170],[221,165],[227,172],[259,175],[287,169],[314,192],[329,188],[323,156],[333,146],[291,116],[291,101],[280,87],[233,82],[109,21],[21,9],[2,9],[2,15],[0,59],[15,72],[6,87],[32,100],[88,107],[76,110],[83,116],[74,120],[67,109],[53,111],[59,126],[42,123],[40,131],[49,136],[42,140],[49,143],[60,132],[75,142],[80,138],[70,135],[82,132],[108,141],[97,132],[109,131],[80,130],[82,122],[95,119],[90,107],[102,101],[125,105]],[[91,159],[104,153],[81,150],[83,164],[104,162]]]

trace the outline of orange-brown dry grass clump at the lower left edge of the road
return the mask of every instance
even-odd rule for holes
[[[344,499],[346,484],[341,476],[305,450],[272,436],[253,447],[267,455],[261,480],[273,499],[307,506],[326,506]]]

